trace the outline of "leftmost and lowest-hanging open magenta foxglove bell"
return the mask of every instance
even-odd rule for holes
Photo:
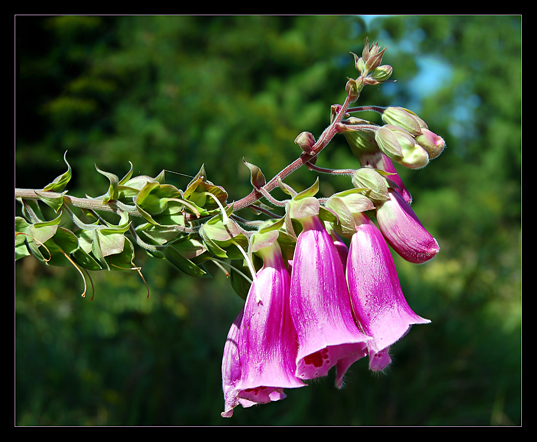
[[[234,323],[228,335],[222,362],[223,417],[231,417],[237,404],[277,401],[286,397],[284,388],[306,386],[295,377],[297,337],[289,311],[289,273],[280,248],[274,242],[258,253],[264,259],[257,273],[262,300],[257,302],[253,282],[240,329]]]

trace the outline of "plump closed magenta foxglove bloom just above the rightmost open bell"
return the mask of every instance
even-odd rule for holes
[[[407,202],[389,189],[390,199],[376,211],[379,228],[388,244],[408,262],[421,264],[434,258],[440,247],[425,230]]]

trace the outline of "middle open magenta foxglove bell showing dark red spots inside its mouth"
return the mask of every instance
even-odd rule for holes
[[[339,360],[364,356],[371,338],[354,323],[343,265],[322,221],[318,216],[299,221],[303,230],[291,276],[291,314],[299,341],[296,376],[314,379]],[[350,364],[341,363],[345,369]]]

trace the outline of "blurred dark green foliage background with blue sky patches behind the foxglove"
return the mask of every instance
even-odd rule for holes
[[[134,272],[95,272],[90,302],[75,269],[26,257],[17,425],[520,424],[519,16],[19,16],[16,186],[45,186],[68,150],[72,195],[106,192],[93,163],[122,176],[132,161],[150,176],[205,163],[240,199],[243,156],[270,178],[299,156],[297,134],[329,124],[357,76],[348,53],[366,36],[389,46],[397,83],[367,86],[357,104],[410,107],[447,144],[423,170],[398,168],[441,247],[424,265],[394,258],[410,306],[432,324],[393,346],[386,375],[360,360],[340,392],[332,374],[222,419],[222,351],[242,300],[216,267],[194,279],[139,252],[150,298]],[[343,136],[317,164],[359,166]],[[287,181],[315,178],[301,169]],[[190,178],[166,180],[184,189]],[[347,180],[322,177],[321,193]]]

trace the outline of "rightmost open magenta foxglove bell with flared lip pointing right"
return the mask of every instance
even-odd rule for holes
[[[367,343],[369,368],[382,370],[391,359],[388,347],[403,337],[412,324],[431,321],[416,315],[404,299],[388,245],[375,224],[355,214],[357,232],[351,238],[347,282],[355,319],[373,337]]]

